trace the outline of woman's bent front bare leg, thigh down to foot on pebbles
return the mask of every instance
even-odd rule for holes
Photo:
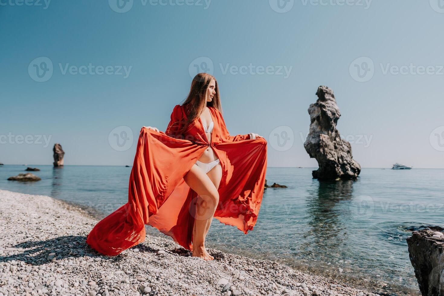
[[[219,203],[218,190],[211,179],[196,164],[191,167],[183,179],[198,194],[193,229],[193,256],[213,260],[214,257],[210,256],[205,249],[205,228],[208,220],[213,219],[214,211]]]

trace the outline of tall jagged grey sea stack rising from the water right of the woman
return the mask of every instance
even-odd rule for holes
[[[341,116],[333,90],[320,86],[317,89],[316,103],[311,104],[310,132],[304,147],[310,158],[316,158],[318,170],[312,172],[313,178],[320,180],[354,179],[361,172],[361,166],[352,156],[350,143],[341,139],[336,129]]]

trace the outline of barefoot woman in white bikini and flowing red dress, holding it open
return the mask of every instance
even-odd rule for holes
[[[173,237],[192,256],[205,248],[212,218],[245,234],[259,213],[266,173],[266,140],[231,136],[222,118],[216,79],[199,73],[166,132],[143,126],[130,176],[128,203],[105,217],[87,243],[114,256],[145,239],[145,225]]]

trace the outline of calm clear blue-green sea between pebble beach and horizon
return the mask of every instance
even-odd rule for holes
[[[6,179],[24,166],[0,166],[0,188],[75,202],[99,217],[127,202],[129,167],[37,167],[41,181],[19,183]],[[265,190],[247,235],[214,219],[207,247],[345,278],[375,292],[419,295],[405,238],[412,227],[444,226],[444,170],[363,169],[357,181],[342,182],[319,182],[311,170],[268,168],[268,183],[288,188]]]

